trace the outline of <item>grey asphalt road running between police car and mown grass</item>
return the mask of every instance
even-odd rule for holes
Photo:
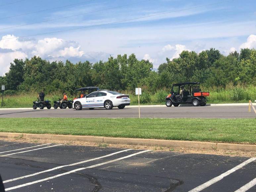
[[[253,112],[248,113],[248,106],[205,106],[205,107],[141,107],[142,118],[256,118]],[[0,110],[0,118],[8,117],[77,117],[77,118],[137,118],[137,107],[125,109],[37,109],[33,110]]]

